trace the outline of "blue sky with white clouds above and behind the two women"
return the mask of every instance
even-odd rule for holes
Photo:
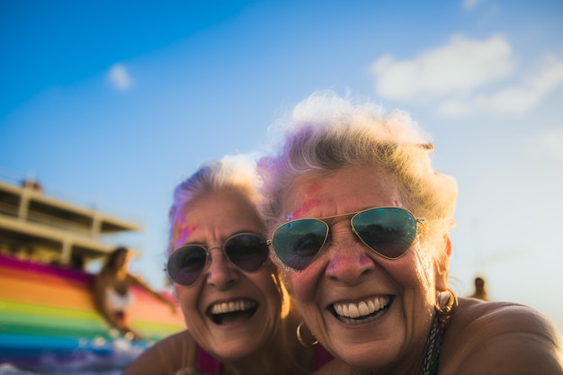
[[[251,153],[318,89],[406,110],[460,185],[451,286],[563,329],[563,2],[0,2],[0,176],[144,227],[201,163]]]

